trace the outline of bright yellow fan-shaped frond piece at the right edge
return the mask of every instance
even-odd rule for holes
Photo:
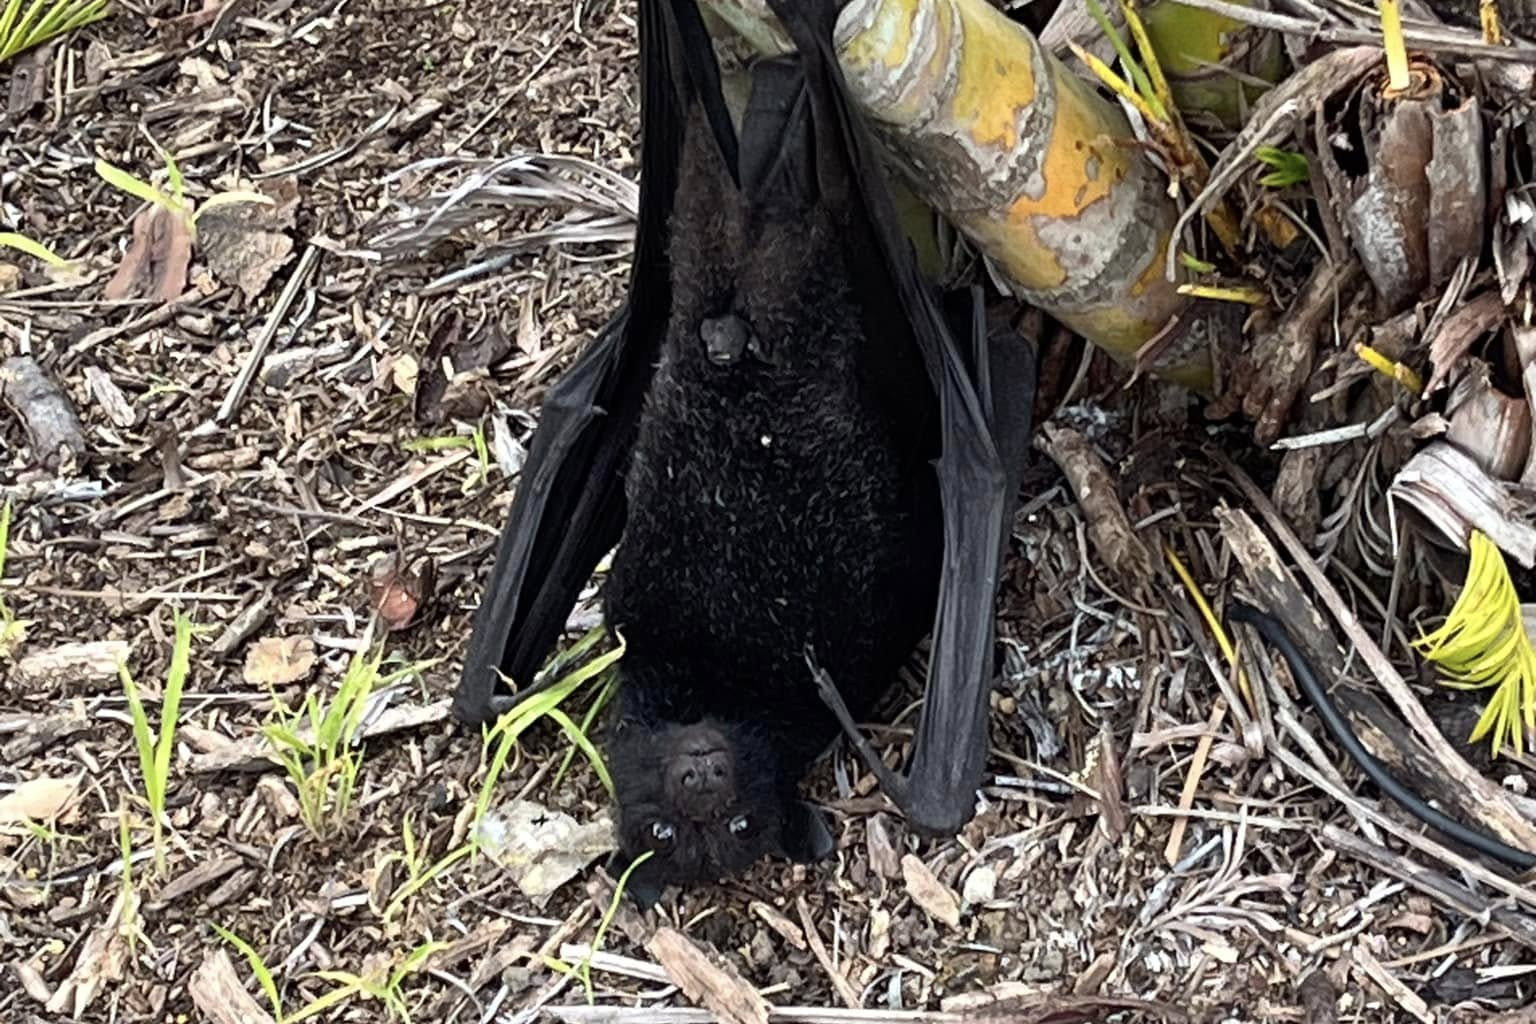
[[[1493,734],[1493,754],[1504,743],[1525,751],[1525,731],[1536,729],[1536,648],[1521,617],[1521,599],[1498,545],[1471,531],[1467,582],[1445,622],[1415,642],[1438,665],[1447,686],[1493,686],[1471,740]]]

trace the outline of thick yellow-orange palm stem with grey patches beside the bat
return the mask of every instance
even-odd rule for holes
[[[707,0],[754,46],[786,45],[762,0]],[[1124,115],[985,0],[849,0],[848,88],[912,190],[1014,292],[1130,362],[1209,391],[1204,307],[1163,264],[1177,220]]]

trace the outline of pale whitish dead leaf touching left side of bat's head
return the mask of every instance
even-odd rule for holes
[[[492,860],[507,867],[539,907],[587,864],[617,847],[607,817],[582,824],[533,800],[513,800],[487,814],[479,838]]]

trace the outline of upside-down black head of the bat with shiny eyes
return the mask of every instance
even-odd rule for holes
[[[608,738],[619,872],[645,852],[628,890],[654,903],[668,884],[716,881],[762,857],[813,861],[831,846],[820,814],[794,794],[774,745],[754,728],[621,718]]]

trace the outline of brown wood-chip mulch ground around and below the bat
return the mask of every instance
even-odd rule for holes
[[[18,499],[5,599],[31,620],[15,656],[120,640],[134,676],[157,692],[172,611],[209,629],[194,645],[181,708],[163,877],[134,803],[141,775],[111,659],[104,671],[71,662],[28,676],[0,662],[0,795],[81,780],[51,838],[15,823],[0,832],[0,1018],[198,1015],[189,983],[221,947],[210,924],[266,958],[290,1013],[332,987],[309,972],[387,969],[429,940],[453,946],[402,981],[413,1019],[542,1019],[544,1004],[581,1004],[581,986],[539,960],[593,940],[602,904],[581,880],[538,906],[496,864],[459,863],[407,913],[381,913],[401,884],[386,861],[402,849],[402,820],[435,857],[462,841],[478,737],[438,720],[376,738],[355,820],[326,841],[300,824],[280,774],[198,769],[209,757],[221,763],[229,742],[257,737],[270,711],[261,669],[247,665],[257,645],[309,637],[313,666],[303,674],[301,652],[303,677],[278,689],[332,691],[373,617],[378,557],[436,567],[419,622],[389,634],[389,652],[441,660],[399,702],[432,706],[452,691],[507,470],[527,439],[524,413],[613,310],[627,253],[535,247],[499,273],[422,296],[467,250],[447,243],[379,259],[375,243],[402,197],[458,172],[386,177],[425,158],[542,150],[633,178],[633,5],[237,0],[206,15],[118,5],[112,20],[45,54],[38,72],[0,129],[0,198],[22,230],[83,261],[89,281],[51,282],[28,264],[12,295],[0,293],[0,350],[35,353],[55,373],[88,451],[66,467],[75,490],[63,493],[18,422],[0,422],[0,481]],[[103,184],[91,161],[149,177],[151,138],[177,157],[194,197],[257,177],[281,200],[261,215],[269,221],[206,223],[201,239],[226,263],[204,273],[195,256],[186,287],[198,292],[170,315],[143,298],[100,299],[138,203]],[[515,213],[487,230],[511,236],[550,218]],[[295,250],[264,259],[264,246],[281,249],[272,235]],[[246,279],[249,296],[232,284]],[[410,448],[470,428],[424,422],[432,402],[418,416],[409,391],[430,373],[433,338],[485,338],[487,324],[508,342],[495,405],[456,410],[485,427],[482,473],[472,448]],[[292,361],[233,388],[263,338],[269,355]],[[1103,433],[1123,427],[1111,421]],[[1218,688],[1198,651],[1177,629],[1172,649],[1149,646],[1084,571],[1081,525],[1049,464],[1037,485],[1018,528],[1028,557],[1015,559],[1003,608],[1005,633],[1026,657],[995,702],[1006,755],[991,768],[1006,777],[983,814],[954,841],[909,838],[857,763],[839,755],[814,780],[839,812],[834,864],[765,864],[673,895],[660,915],[783,1006],[852,996],[871,1010],[937,1010],[965,1007],[968,993],[1101,993],[1193,1019],[1327,1019],[1336,1004],[1338,1019],[1382,1021],[1410,1003],[1373,978],[1396,978],[1438,1019],[1482,1019],[1475,998],[1516,998],[1518,981],[1487,972],[1519,960],[1496,933],[1322,841],[1321,826],[1344,817],[1338,806],[1253,757],[1230,718],[1212,718]],[[1172,869],[1170,809],[1207,720],[1217,723],[1209,763]],[[1058,749],[1041,754],[1041,734]],[[581,758],[551,786],[545,769],[564,749],[553,729],[530,732],[498,798],[522,794],[594,820],[602,791]],[[1124,795],[1095,798],[1104,780]],[[124,806],[137,823],[132,946],[114,913]],[[903,854],[929,870],[903,864]],[[958,923],[932,912],[942,895],[914,898],[931,887],[926,874],[962,895]],[[593,972],[599,1006],[688,1006],[622,927],[604,947],[634,960]],[[238,956],[237,972],[260,1001]],[[332,1015],[384,1019],[378,1003],[358,999]]]

